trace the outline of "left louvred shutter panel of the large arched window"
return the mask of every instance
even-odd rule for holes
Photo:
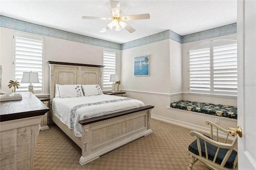
[[[189,51],[190,92],[210,93],[210,48]]]

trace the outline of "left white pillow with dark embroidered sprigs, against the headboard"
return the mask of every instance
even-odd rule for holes
[[[81,85],[58,85],[58,89],[60,98],[84,96]]]

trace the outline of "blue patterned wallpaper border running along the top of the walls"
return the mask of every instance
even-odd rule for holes
[[[210,30],[205,30],[202,32],[188,34],[185,36],[180,36],[179,34],[171,30],[166,30],[164,32],[153,34],[151,36],[140,38],[138,40],[119,44],[119,43],[109,42],[105,40],[100,40],[97,38],[88,37],[88,36],[82,36],[80,34],[75,34],[72,32],[66,32],[66,31],[55,29],[55,28],[41,26],[41,25],[30,23],[30,22],[16,20],[14,18],[9,18],[6,16],[0,16],[0,26],[14,29],[14,30],[39,34],[43,36],[50,36],[54,38],[60,38],[63,40],[86,43],[90,45],[97,45],[100,47],[107,47],[107,48],[118,49],[118,50],[138,47],[140,45],[145,45],[145,44],[158,42],[166,39],[171,39],[179,43],[188,43],[188,42],[194,42],[194,41],[236,33],[236,23],[234,23],[226,26],[221,26],[218,28],[213,28]]]

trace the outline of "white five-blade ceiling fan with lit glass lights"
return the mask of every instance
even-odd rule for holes
[[[100,32],[106,32],[109,28],[112,30],[112,28],[115,26],[116,31],[120,31],[121,28],[124,28],[130,33],[133,33],[135,31],[135,29],[132,28],[131,26],[129,26],[124,21],[150,19],[149,14],[138,14],[138,15],[123,16],[124,13],[120,10],[120,2],[117,2],[117,1],[114,1],[114,0],[110,0],[110,6],[111,6],[110,13],[112,14],[111,18],[83,16],[82,19],[112,20],[112,22],[110,22]]]

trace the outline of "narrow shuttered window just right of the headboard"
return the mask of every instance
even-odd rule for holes
[[[103,89],[111,89],[110,75],[116,74],[116,51],[103,50]]]

